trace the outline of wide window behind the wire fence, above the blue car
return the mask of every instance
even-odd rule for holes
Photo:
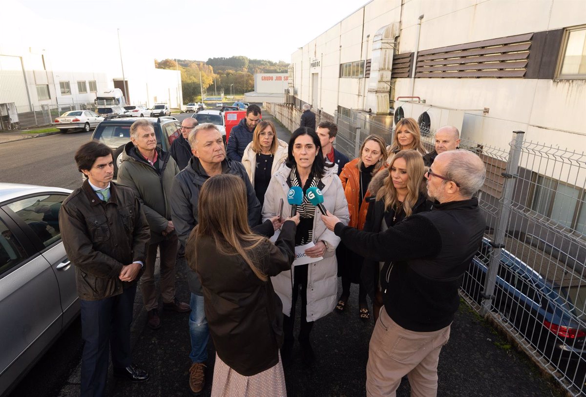
[[[586,236],[584,189],[535,174],[535,187],[528,206],[538,214]]]

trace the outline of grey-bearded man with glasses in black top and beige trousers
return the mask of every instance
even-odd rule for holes
[[[485,180],[482,160],[467,150],[440,153],[425,173],[431,211],[379,233],[322,220],[347,248],[381,271],[384,306],[370,338],[368,396],[388,396],[408,376],[411,393],[437,395],[437,365],[458,310],[458,288],[478,251],[486,221],[473,197]],[[364,269],[363,272],[372,272]]]

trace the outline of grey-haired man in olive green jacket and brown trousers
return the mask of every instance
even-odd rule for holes
[[[161,295],[163,307],[175,312],[189,312],[189,305],[175,297],[175,258],[178,239],[171,221],[169,193],[179,167],[168,152],[156,147],[155,130],[145,119],[135,121],[130,127],[130,139],[122,154],[118,169],[118,183],[130,187],[141,200],[142,210],[151,227],[151,241],[147,249],[145,272],[141,278],[141,290],[148,325],[156,330],[161,327],[159,294],[155,286],[156,250],[160,251]]]

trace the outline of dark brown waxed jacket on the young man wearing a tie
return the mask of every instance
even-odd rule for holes
[[[145,262],[149,226],[141,203],[125,186],[110,183],[110,200],[98,198],[86,180],[63,201],[59,229],[76,273],[77,295],[100,300],[138,282],[118,278],[122,266]]]

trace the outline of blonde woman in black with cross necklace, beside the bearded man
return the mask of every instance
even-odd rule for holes
[[[376,201],[370,203],[364,231],[385,231],[406,217],[431,210],[424,174],[425,166],[420,153],[415,150],[396,153],[388,169],[376,174],[369,184],[369,191],[376,197]],[[373,298],[374,321],[378,319],[383,306],[381,286],[388,282],[379,280],[383,266],[383,262],[365,260],[360,274],[364,288]]]

